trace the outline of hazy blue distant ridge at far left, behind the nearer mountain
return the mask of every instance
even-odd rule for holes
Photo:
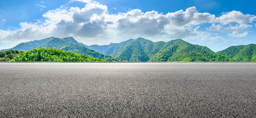
[[[41,40],[34,40],[34,41],[25,42],[25,43],[20,43],[11,49],[12,50],[22,50],[22,51],[35,49],[35,48],[41,47],[42,45],[44,45],[48,41],[52,40],[53,38],[55,38],[55,37],[49,37],[49,38],[45,38],[45,39],[41,39]],[[6,51],[6,50],[10,50],[10,49],[2,49],[0,51]]]

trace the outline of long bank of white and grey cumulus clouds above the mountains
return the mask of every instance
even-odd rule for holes
[[[220,17],[214,14],[201,13],[196,7],[178,10],[167,14],[157,11],[142,12],[134,9],[118,14],[109,14],[107,6],[93,0],[72,0],[85,4],[83,8],[61,6],[43,14],[45,20],[20,23],[19,30],[0,30],[0,40],[35,40],[50,36],[67,37],[90,44],[106,44],[121,42],[130,38],[145,37],[148,39],[201,40],[223,42],[226,39],[216,36],[208,30],[226,31],[228,36],[244,38],[248,32],[238,33],[239,30],[252,28],[256,20],[254,15],[243,14],[240,11],[224,12]],[[45,8],[45,6],[38,5]],[[106,22],[111,22],[107,24]],[[200,25],[210,23],[206,31],[198,30]],[[236,23],[237,25],[229,25]],[[232,32],[232,33],[231,33]]]

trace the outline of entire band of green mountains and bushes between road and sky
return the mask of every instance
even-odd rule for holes
[[[231,46],[214,52],[182,39],[152,42],[139,37],[109,45],[87,46],[73,37],[49,37],[0,50],[0,61],[256,61],[256,45]]]

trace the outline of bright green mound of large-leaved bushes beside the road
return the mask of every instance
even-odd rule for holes
[[[61,49],[36,48],[14,57],[12,62],[101,62],[104,60]]]

